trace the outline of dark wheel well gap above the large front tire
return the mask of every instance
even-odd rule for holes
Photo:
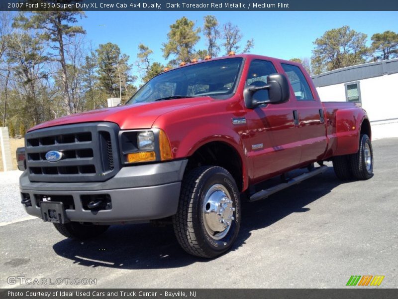
[[[203,165],[225,168],[234,178],[239,190],[242,190],[242,161],[239,153],[230,145],[223,142],[211,142],[201,146],[189,157],[185,171],[187,172]]]

